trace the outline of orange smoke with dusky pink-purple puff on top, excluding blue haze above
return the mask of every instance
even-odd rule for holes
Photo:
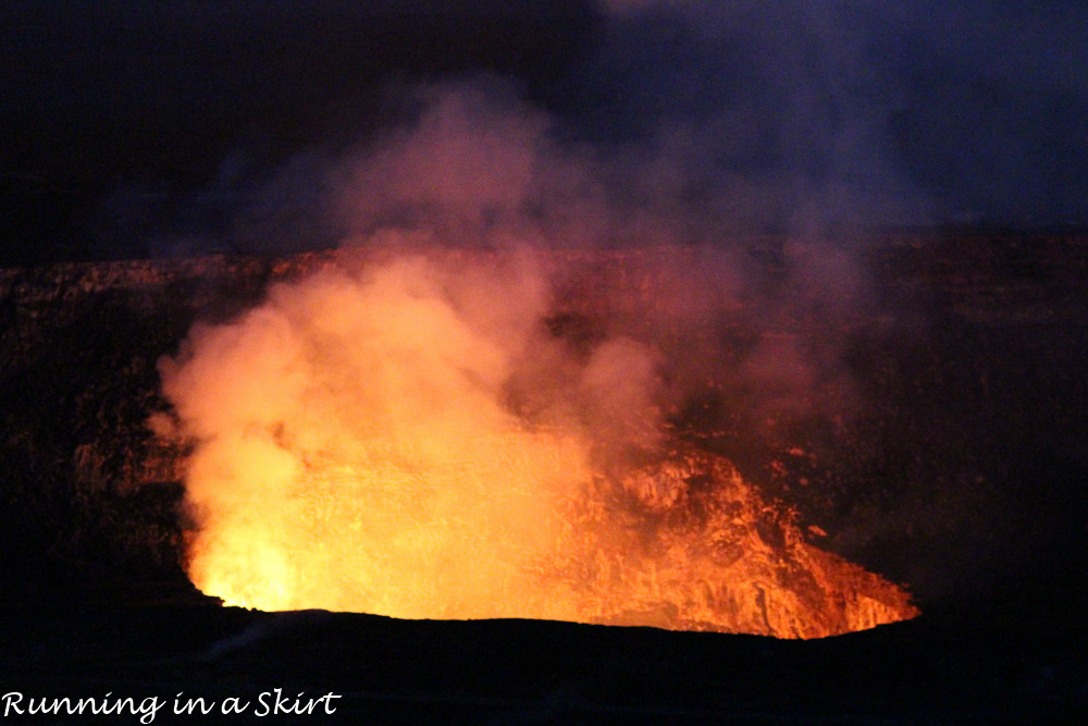
[[[156,424],[194,446],[188,570],[269,608],[579,619],[593,598],[540,579],[595,567],[570,531],[598,515],[572,503],[627,521],[625,497],[672,502],[682,479],[622,472],[675,455],[695,398],[746,385],[757,413],[796,413],[837,361],[775,339],[729,366],[724,328],[780,315],[746,311],[765,281],[742,255],[679,246],[700,227],[672,200],[641,204],[618,157],[560,139],[507,84],[416,94],[405,124],[280,182],[321,176],[305,214],[342,239],[341,269],[273,285],[160,364],[174,415]],[[613,246],[645,261],[580,266]],[[813,269],[806,290],[839,279]]]

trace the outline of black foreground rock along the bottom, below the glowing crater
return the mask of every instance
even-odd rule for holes
[[[1083,622],[1010,615],[1000,606],[929,613],[849,636],[780,641],[199,604],[9,608],[0,682],[25,699],[158,697],[165,706],[153,723],[195,721],[172,710],[175,699],[198,697],[214,704],[200,723],[1022,724],[1077,716],[1088,696]],[[323,705],[302,715],[270,711],[277,696],[294,709],[300,698],[329,693],[338,697],[330,701],[334,713]],[[223,715],[231,698],[248,711]]]

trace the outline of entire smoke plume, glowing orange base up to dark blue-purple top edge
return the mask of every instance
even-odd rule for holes
[[[883,144],[887,109],[868,106],[864,78],[838,77],[864,49],[833,13],[779,25],[755,5],[614,5],[610,40],[569,96],[609,99],[590,113],[491,75],[399,85],[390,123],[262,183],[235,244],[333,243],[345,267],[273,285],[235,320],[196,327],[160,365],[174,415],[156,424],[194,445],[199,587],[247,602],[249,588],[279,583],[264,606],[314,606],[299,594],[306,573],[358,557],[345,547],[362,541],[369,569],[325,582],[319,606],[510,615],[480,604],[498,588],[535,616],[570,617],[527,573],[557,556],[589,567],[555,542],[570,517],[595,521],[569,503],[599,476],[619,487],[602,501],[628,502],[609,505],[616,516],[640,497],[688,501],[704,469],[733,482],[719,493],[738,497],[729,506],[754,513],[751,496],[729,493],[741,487],[729,467],[668,464],[671,430],[707,401],[724,406],[712,416],[770,426],[856,403],[842,331],[875,295],[855,254],[873,225],[926,209]],[[654,65],[683,44],[668,72]],[[768,61],[771,48],[784,56]],[[814,49],[826,65],[799,65]],[[731,58],[754,65],[726,74]],[[755,102],[737,83],[774,91]],[[756,123],[762,103],[782,110],[771,127]],[[784,244],[768,268],[755,253],[769,232]],[[646,276],[586,275],[584,250],[643,255]],[[598,309],[569,316],[571,288]],[[726,342],[737,325],[764,332],[737,349]],[[658,475],[625,473],[647,466]],[[333,516],[322,503],[344,492],[350,504]],[[630,527],[663,527],[650,510]],[[285,550],[282,532],[308,520],[362,539]],[[775,527],[781,546],[809,557],[792,525]],[[493,545],[507,541],[517,553]],[[405,591],[419,586],[393,581],[382,562],[422,574],[426,592]],[[239,568],[251,585],[232,577]]]

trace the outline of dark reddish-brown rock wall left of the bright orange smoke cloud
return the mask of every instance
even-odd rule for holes
[[[220,294],[225,272],[205,260],[2,273],[2,564],[16,590],[41,578],[176,575],[175,452],[145,421],[164,405],[157,358],[197,315],[252,284],[238,274]]]

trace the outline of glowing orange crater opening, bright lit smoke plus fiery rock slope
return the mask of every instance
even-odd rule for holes
[[[227,604],[813,638],[912,617],[666,433],[652,343],[571,342],[532,260],[273,286],[161,364],[194,583]]]

